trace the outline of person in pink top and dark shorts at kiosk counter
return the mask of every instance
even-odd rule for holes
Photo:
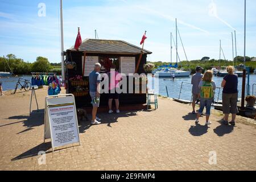
[[[117,93],[116,88],[119,88],[119,81],[121,81],[121,74],[115,71],[115,65],[113,64],[109,75],[109,114],[113,113],[112,110],[112,101],[115,100],[115,111],[120,113],[119,111],[119,93]]]

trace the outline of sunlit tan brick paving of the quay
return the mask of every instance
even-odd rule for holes
[[[81,146],[52,153],[43,143],[47,90],[36,90],[40,113],[31,117],[30,94],[0,97],[1,170],[256,170],[254,119],[238,116],[236,127],[224,126],[213,111],[212,125],[205,118],[195,125],[191,106],[163,97],[155,111],[101,113],[98,126],[82,122]],[[46,164],[39,165],[39,151],[47,151]]]

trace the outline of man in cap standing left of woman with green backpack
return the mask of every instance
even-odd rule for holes
[[[199,82],[202,80],[202,71],[204,68],[202,67],[196,67],[196,74],[192,76],[191,78],[191,84],[192,86],[192,95],[193,95],[193,100],[192,100],[192,107],[193,111],[192,113],[195,114],[195,106],[196,106],[196,101],[199,100],[200,98],[200,89],[198,87]]]

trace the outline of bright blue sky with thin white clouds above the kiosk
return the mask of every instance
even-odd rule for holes
[[[231,32],[237,30],[237,54],[243,55],[243,0],[63,0],[64,48],[75,44],[77,27],[82,39],[125,40],[139,46],[144,30],[144,48],[149,61],[170,61],[170,32],[175,36],[175,18],[189,60],[209,56],[218,59],[219,41],[226,59],[232,60]],[[38,16],[39,3],[46,16]],[[0,0],[0,55],[14,53],[25,61],[37,56],[60,62],[59,0]],[[256,56],[256,1],[247,0],[246,55]],[[174,46],[174,45],[173,45]],[[185,55],[178,42],[179,55]],[[175,61],[173,49],[172,61]],[[223,56],[222,56],[223,58]]]

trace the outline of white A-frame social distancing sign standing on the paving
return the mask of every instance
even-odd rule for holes
[[[80,144],[79,127],[73,94],[47,96],[44,110],[44,142],[51,139],[55,147]]]

